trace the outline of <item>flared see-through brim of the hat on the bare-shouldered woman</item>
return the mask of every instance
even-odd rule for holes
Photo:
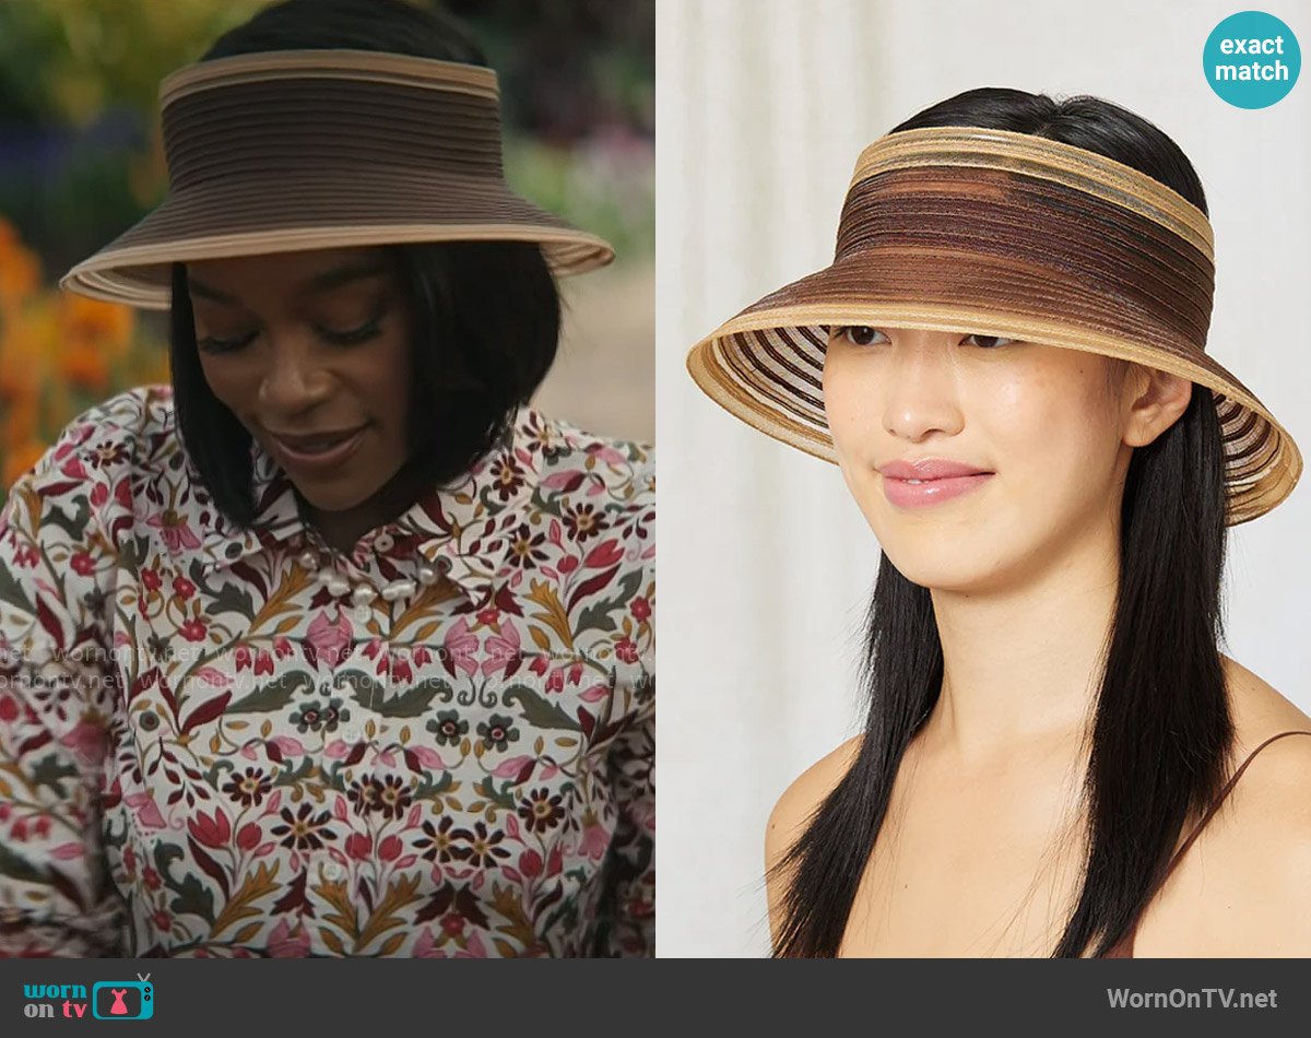
[[[836,463],[823,410],[823,358],[829,328],[869,325],[960,334],[1004,336],[1131,360],[1189,379],[1214,394],[1224,451],[1228,524],[1265,514],[1302,474],[1291,435],[1224,366],[1200,350],[1126,339],[1078,308],[1061,321],[1027,309],[1038,295],[1004,257],[971,254],[953,265],[971,284],[937,292],[947,254],[923,248],[855,253],[751,304],[687,355],[687,370],[711,398],[773,439]],[[966,257],[961,257],[966,260]],[[970,291],[960,291],[961,288]],[[962,307],[986,296],[995,305]],[[907,300],[915,300],[907,303]]]

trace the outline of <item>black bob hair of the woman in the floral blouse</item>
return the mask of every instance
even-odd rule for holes
[[[270,50],[354,48],[486,66],[435,12],[405,0],[284,0],[222,35],[202,62]],[[560,294],[534,242],[385,245],[406,296],[413,379],[402,485],[455,480],[506,435],[547,376]],[[240,527],[256,514],[250,434],[214,396],[195,342],[186,266],[173,265],[169,358],[178,431],[215,507]]]

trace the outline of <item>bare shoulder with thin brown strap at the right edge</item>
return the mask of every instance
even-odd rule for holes
[[[1311,955],[1311,735],[1268,742],[1311,733],[1311,717],[1234,661],[1226,672],[1235,764],[1248,763],[1192,862],[1205,942],[1224,955]]]

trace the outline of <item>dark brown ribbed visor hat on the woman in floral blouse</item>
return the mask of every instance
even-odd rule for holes
[[[420,241],[535,241],[556,274],[614,250],[510,190],[496,73],[357,50],[237,55],[160,84],[169,193],[62,279],[166,309],[170,263]]]

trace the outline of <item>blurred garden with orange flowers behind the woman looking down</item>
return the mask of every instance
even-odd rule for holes
[[[510,183],[607,239],[564,279],[560,356],[535,404],[654,436],[654,0],[409,0],[452,14],[501,79]],[[166,315],[59,278],[168,190],[160,80],[269,0],[0,1],[0,501],[59,430],[166,383]]]

